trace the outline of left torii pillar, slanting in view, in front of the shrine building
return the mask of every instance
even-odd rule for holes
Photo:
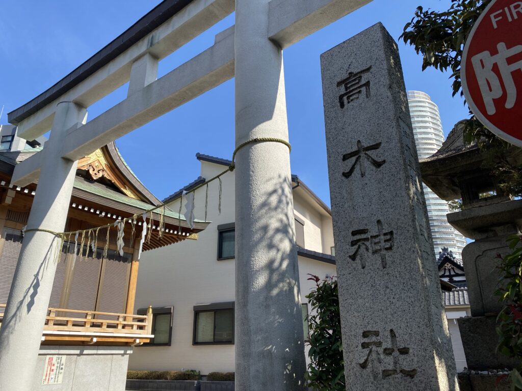
[[[64,230],[77,162],[60,157],[62,141],[68,130],[86,120],[87,110],[73,102],[61,102],[56,107],[28,229]],[[42,231],[29,231],[23,238],[0,327],[0,391],[28,391],[32,387],[53,289],[55,254],[61,251],[58,242],[53,234]]]

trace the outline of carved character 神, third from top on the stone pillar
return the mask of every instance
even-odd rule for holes
[[[377,220],[376,235],[369,235],[369,229],[364,228],[352,231],[352,238],[354,239],[350,242],[350,246],[356,247],[353,254],[349,255],[352,261],[357,260],[361,247],[364,247],[366,252],[371,251],[372,254],[381,255],[381,264],[383,269],[386,268],[386,252],[393,250],[394,234],[392,230],[384,232],[383,222],[381,220]],[[370,246],[368,246],[368,243]],[[364,256],[360,256],[359,259],[361,268],[365,268],[366,261],[364,260]]]

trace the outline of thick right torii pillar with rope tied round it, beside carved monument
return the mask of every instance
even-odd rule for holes
[[[268,39],[269,0],[236,0],[235,142],[288,140],[281,48]],[[304,337],[290,154],[245,145],[235,174],[235,385],[304,390]]]

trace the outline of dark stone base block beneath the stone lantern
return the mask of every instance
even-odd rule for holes
[[[517,360],[496,352],[499,344],[496,316],[461,317],[457,322],[470,370],[511,370],[518,364]]]

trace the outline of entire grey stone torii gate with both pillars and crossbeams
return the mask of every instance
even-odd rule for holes
[[[20,163],[13,175],[19,186],[39,183],[28,229],[64,230],[80,157],[232,77],[236,145],[256,137],[288,140],[282,50],[370,1],[162,2],[140,20],[142,26],[138,22],[9,113],[22,138],[32,140],[51,129],[44,150]],[[160,59],[234,10],[235,26],[216,35],[212,47],[156,80]],[[169,13],[160,23],[147,24],[151,14]],[[127,99],[86,123],[87,108],[127,81]],[[280,143],[251,143],[236,161],[236,389],[302,390],[289,150]],[[0,329],[1,390],[30,390],[56,268],[53,240],[44,231],[30,231],[23,241]]]

